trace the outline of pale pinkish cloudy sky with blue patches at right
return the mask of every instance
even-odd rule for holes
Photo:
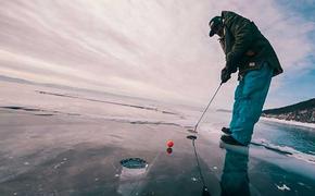
[[[315,97],[315,1],[10,0],[0,2],[0,75],[163,101],[206,105],[225,65],[209,20],[256,23],[285,73],[266,108]],[[236,76],[216,107],[229,109]]]

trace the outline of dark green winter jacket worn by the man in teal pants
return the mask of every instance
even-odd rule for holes
[[[234,12],[222,12],[225,36],[219,39],[230,73],[239,69],[239,76],[257,70],[264,62],[274,69],[274,76],[284,72],[276,52],[256,25]]]

